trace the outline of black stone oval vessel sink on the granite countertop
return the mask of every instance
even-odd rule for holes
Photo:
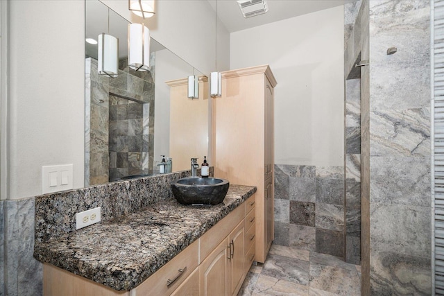
[[[185,177],[171,183],[173,195],[181,204],[219,204],[230,182],[214,177]]]

